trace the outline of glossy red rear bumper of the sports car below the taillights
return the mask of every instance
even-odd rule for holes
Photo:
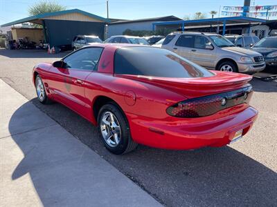
[[[222,116],[226,112],[233,113]],[[128,119],[132,138],[137,143],[155,148],[190,150],[229,144],[238,130],[243,129],[243,135],[249,131],[257,115],[255,108],[245,108],[242,104],[215,115],[186,121],[145,121],[134,117]]]

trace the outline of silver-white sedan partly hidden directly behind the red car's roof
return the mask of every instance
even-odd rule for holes
[[[149,46],[148,41],[142,37],[127,36],[127,35],[116,35],[106,39],[105,43],[130,43]]]

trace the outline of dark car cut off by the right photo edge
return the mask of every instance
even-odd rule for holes
[[[277,66],[277,37],[265,37],[251,49],[260,52],[264,56],[267,66]]]

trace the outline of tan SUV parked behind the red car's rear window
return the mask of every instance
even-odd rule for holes
[[[248,74],[265,69],[260,53],[235,47],[220,34],[174,32],[168,34],[161,47],[208,69]]]

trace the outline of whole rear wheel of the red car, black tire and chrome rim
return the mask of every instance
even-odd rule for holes
[[[115,103],[102,106],[98,112],[97,121],[100,137],[111,153],[122,155],[131,152],[138,145],[131,137],[125,115]]]

